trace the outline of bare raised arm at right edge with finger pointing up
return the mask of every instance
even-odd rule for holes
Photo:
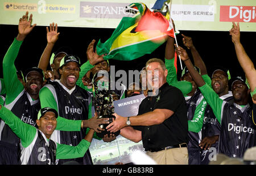
[[[253,92],[256,88],[256,70],[253,65],[253,62],[251,61],[249,56],[246,54],[246,51],[240,42],[240,25],[239,25],[239,23],[237,23],[237,24],[234,22],[232,22],[232,23],[233,23],[233,28],[230,29],[229,35],[232,36],[232,42],[236,49],[238,62],[240,63],[241,67],[243,68],[243,71],[245,72],[245,75],[250,84],[251,92]],[[256,101],[256,97],[254,98],[254,100]]]

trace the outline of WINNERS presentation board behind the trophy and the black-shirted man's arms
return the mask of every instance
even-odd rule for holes
[[[139,105],[144,99],[144,95],[124,98],[114,101],[115,113],[123,117],[138,114]],[[142,141],[134,143],[123,136],[118,135],[117,139],[110,143],[103,140],[93,139],[89,147],[94,165],[113,165],[117,162],[127,164],[131,162],[130,156],[135,151],[144,151]]]

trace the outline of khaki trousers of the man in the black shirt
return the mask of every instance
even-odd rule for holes
[[[158,152],[147,151],[146,154],[158,165],[188,165],[187,147],[164,149]]]

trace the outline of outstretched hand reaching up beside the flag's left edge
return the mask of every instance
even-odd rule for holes
[[[104,55],[98,55],[97,51],[94,52],[93,46],[94,46],[95,40],[93,39],[92,42],[88,45],[86,55],[87,59],[90,62],[91,65],[96,65],[99,62],[104,61]]]

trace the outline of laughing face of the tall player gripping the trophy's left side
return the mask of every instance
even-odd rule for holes
[[[77,79],[79,79],[80,68],[76,62],[68,62],[62,68],[60,68],[60,82],[72,89],[76,85]]]

